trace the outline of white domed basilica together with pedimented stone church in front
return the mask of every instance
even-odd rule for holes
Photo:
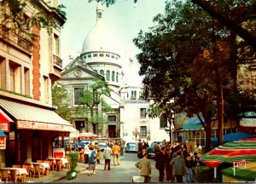
[[[121,43],[112,34],[110,27],[104,25],[102,3],[96,7],[96,25],[84,38],[81,54],[72,60],[61,72],[58,83],[66,86],[70,96],[70,108],[78,111],[76,89],[87,89],[94,83],[93,79],[101,79],[108,82],[108,87],[113,89],[110,96],[101,96],[111,111],[99,105],[94,111],[101,113],[107,119],[104,124],[89,124],[88,114],[76,115],[71,123],[80,132],[93,132],[102,138],[122,138],[125,141],[142,139],[159,139],[168,137],[163,132],[157,133],[159,118],[148,118],[149,101],[142,100],[142,85],[138,77],[138,67],[135,66],[132,57],[125,58],[121,55]],[[107,23],[107,22],[106,22]],[[129,64],[129,70],[123,72],[122,63]],[[155,122],[157,121],[157,122]],[[153,124],[154,123],[154,124]],[[150,135],[150,129],[154,129],[154,135]],[[161,139],[162,139],[161,138]]]

